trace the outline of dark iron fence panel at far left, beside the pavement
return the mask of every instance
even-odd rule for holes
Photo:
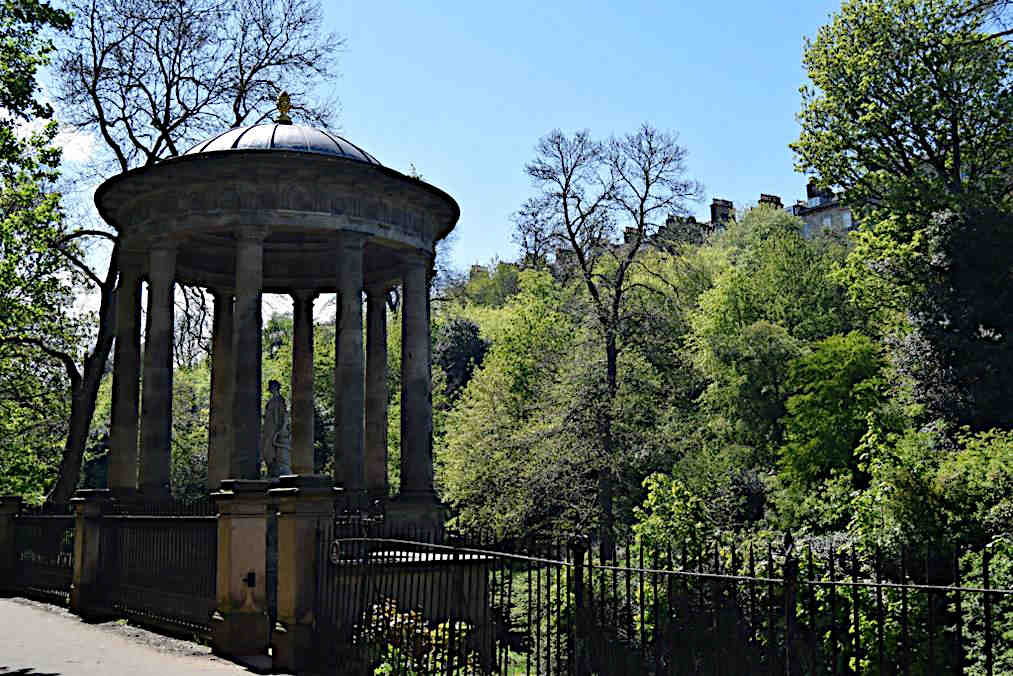
[[[22,510],[14,517],[14,547],[17,588],[66,605],[74,577],[74,516]]]

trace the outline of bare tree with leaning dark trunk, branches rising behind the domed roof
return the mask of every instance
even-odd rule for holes
[[[101,142],[94,176],[148,166],[224,128],[263,122],[283,88],[308,122],[332,122],[333,101],[309,93],[333,82],[343,44],[321,29],[319,0],[71,0],[69,5],[76,20],[57,63],[57,100],[66,122]],[[93,238],[109,244],[104,272],[77,255],[76,244]],[[62,364],[70,379],[69,432],[48,497],[59,504],[77,485],[115,334],[120,243],[112,232],[81,227],[54,246],[100,298],[94,343],[80,367],[75,355],[46,336],[34,344]],[[202,306],[192,294],[184,298]],[[196,350],[200,343],[189,347]]]

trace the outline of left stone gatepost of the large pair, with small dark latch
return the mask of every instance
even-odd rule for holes
[[[212,649],[248,658],[267,653],[267,487],[269,481],[226,479],[218,506],[217,610]]]

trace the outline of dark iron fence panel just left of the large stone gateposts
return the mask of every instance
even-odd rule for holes
[[[107,514],[100,538],[99,576],[111,609],[176,631],[210,634],[216,517]]]

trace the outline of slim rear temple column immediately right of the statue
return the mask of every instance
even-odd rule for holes
[[[313,473],[313,299],[292,293],[292,473]]]

